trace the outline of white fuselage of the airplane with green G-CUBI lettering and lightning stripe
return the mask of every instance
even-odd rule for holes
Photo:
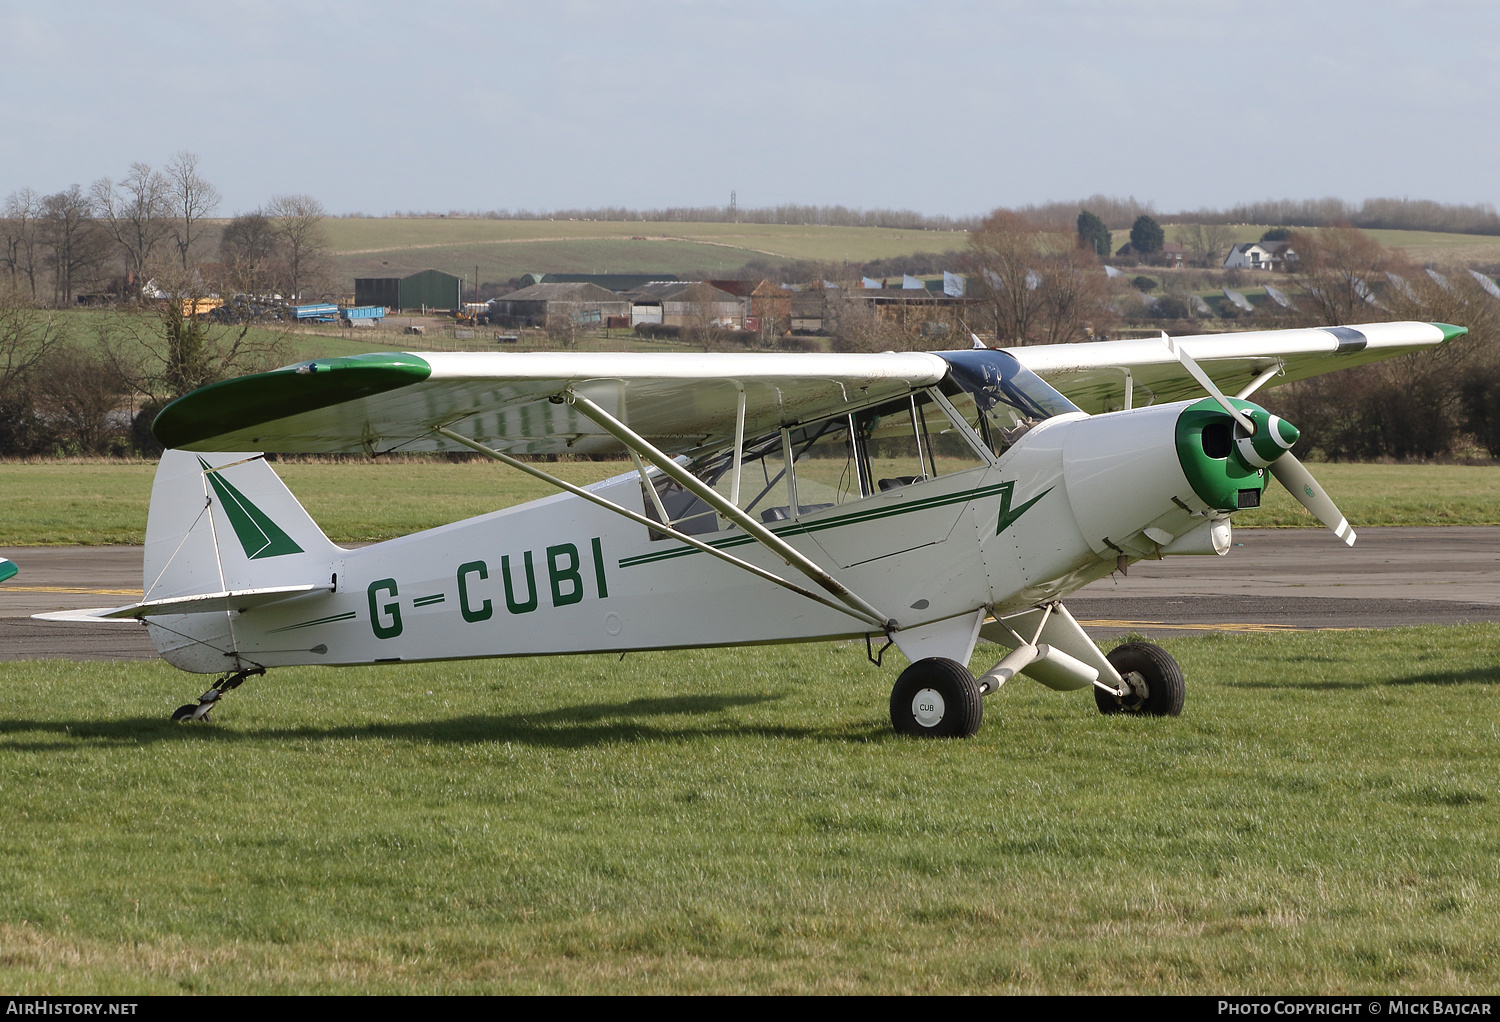
[[[800,498],[762,515],[780,539],[894,620],[897,636],[981,611],[1020,611],[1116,570],[1119,557],[1160,554],[1164,534],[1186,536],[1218,515],[1179,464],[1185,407],[1054,416],[1000,455],[970,435],[972,467],[897,480],[831,506]],[[636,471],[588,489],[652,515]],[[807,582],[738,527],[710,521],[699,540]],[[1144,539],[1148,528],[1155,539]],[[158,648],[177,666],[216,672],[226,651],[264,666],[352,665],[801,642],[876,630],[572,494],[333,551],[326,572],[300,569],[327,582],[321,591],[159,618],[152,624]],[[274,561],[264,564],[272,572]]]

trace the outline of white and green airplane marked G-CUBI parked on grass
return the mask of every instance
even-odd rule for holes
[[[1248,398],[1462,333],[316,359],[168,405],[141,602],[45,617],[136,618],[170,663],[222,675],[174,714],[190,720],[278,666],[849,638],[910,662],[891,692],[903,734],[975,734],[1016,674],[1092,689],[1104,713],[1178,714],[1173,659],[1102,654],[1064,599],[1138,558],[1226,554],[1270,476],[1353,543],[1290,453],[1296,428]],[[462,450],[562,492],[342,548],[258,453]],[[537,455],[633,470],[580,488]],[[980,639],[1010,651],[974,677]]]

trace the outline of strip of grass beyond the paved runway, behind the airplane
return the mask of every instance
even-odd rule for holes
[[[622,462],[560,462],[590,483]],[[0,546],[140,543],[156,462],[0,462]],[[280,462],[278,471],[339,543],[405,536],[508,507],[550,491],[492,462]],[[1500,525],[1500,471],[1491,465],[1312,465],[1354,525]],[[370,509],[378,507],[378,513]],[[1317,527],[1280,486],[1234,515],[1240,527]]]

